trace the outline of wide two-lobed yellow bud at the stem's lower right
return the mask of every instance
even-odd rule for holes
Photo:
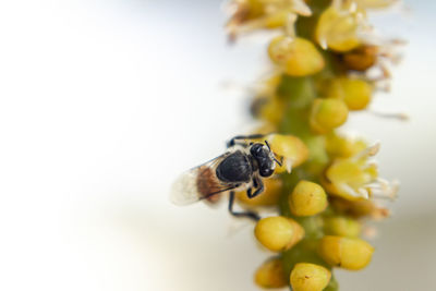
[[[319,243],[319,255],[331,266],[349,270],[366,267],[374,247],[360,239],[326,235]]]

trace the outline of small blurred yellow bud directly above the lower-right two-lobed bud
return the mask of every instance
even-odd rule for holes
[[[324,231],[327,234],[358,238],[361,234],[361,223],[343,216],[327,217],[324,220]]]

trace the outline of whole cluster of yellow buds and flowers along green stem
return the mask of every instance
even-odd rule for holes
[[[332,268],[359,270],[374,248],[364,240],[368,219],[389,211],[397,184],[378,177],[379,144],[339,133],[349,114],[367,110],[397,56],[395,40],[375,35],[367,12],[395,0],[233,0],[230,36],[276,29],[268,56],[274,74],[262,81],[252,112],[257,133],[282,159],[266,191],[245,208],[277,207],[261,219],[257,241],[275,252],[255,272],[263,288],[338,290]]]

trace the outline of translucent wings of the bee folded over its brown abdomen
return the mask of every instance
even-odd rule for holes
[[[222,182],[216,175],[216,168],[228,155],[230,154],[226,153],[182,173],[172,185],[171,202],[177,205],[187,205],[235,189],[237,184]]]

